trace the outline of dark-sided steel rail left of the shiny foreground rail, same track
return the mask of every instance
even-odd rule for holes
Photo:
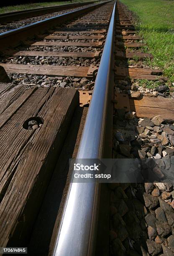
[[[57,15],[46,20],[41,20],[20,28],[16,28],[4,33],[0,33],[0,51],[7,49],[9,46],[17,46],[21,41],[26,40],[28,37],[32,37],[38,33],[44,33],[48,28],[58,26],[65,21],[71,20],[84,13],[99,8],[102,5],[107,4],[109,1],[97,3],[89,7],[84,7],[79,10],[74,10],[69,13]]]

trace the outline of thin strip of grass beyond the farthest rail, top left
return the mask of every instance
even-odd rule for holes
[[[72,0],[72,3],[82,3],[82,2],[90,2],[90,1],[92,0]],[[20,10],[29,10],[29,9],[35,9],[35,8],[50,7],[50,6],[57,6],[57,5],[69,5],[69,4],[71,4],[70,1],[14,5],[14,6],[7,6],[7,7],[0,8],[0,13],[9,13],[9,12],[20,11]]]

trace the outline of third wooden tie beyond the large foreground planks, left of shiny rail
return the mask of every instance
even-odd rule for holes
[[[82,47],[100,47],[102,46],[102,42],[46,42],[46,41],[39,41],[36,43],[31,43],[32,46],[82,46]]]

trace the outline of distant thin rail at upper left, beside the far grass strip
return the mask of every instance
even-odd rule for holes
[[[47,14],[47,13],[53,13],[60,10],[66,10],[69,8],[75,8],[83,5],[89,5],[92,3],[95,3],[97,1],[92,2],[84,2],[84,3],[74,3],[69,5],[59,5],[59,6],[51,6],[46,8],[36,8],[32,10],[21,10],[21,11],[15,11],[10,13],[3,13],[0,14],[0,23],[4,24],[13,20],[19,20],[22,18],[29,18],[37,15]]]

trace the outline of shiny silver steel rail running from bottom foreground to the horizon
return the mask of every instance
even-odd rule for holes
[[[112,70],[115,5],[110,18],[77,159],[101,159],[103,157],[107,95]],[[73,183],[72,174],[72,182],[69,184],[59,231],[54,244],[54,256],[91,256],[95,254],[99,198],[100,185],[98,183]]]

